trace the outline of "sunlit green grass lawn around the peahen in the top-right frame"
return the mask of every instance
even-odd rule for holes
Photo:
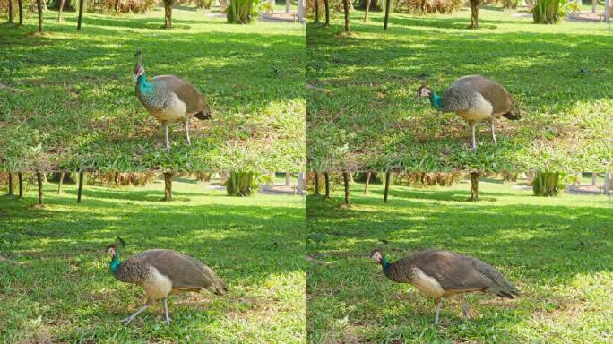
[[[415,16],[339,14],[329,29],[308,24],[309,168],[442,171],[601,170],[613,160],[613,30],[606,24],[539,25],[499,8]],[[525,14],[525,13],[524,13]],[[497,146],[488,124],[477,126],[471,151],[468,125],[416,99],[421,81],[442,91],[463,75],[501,83],[522,120],[498,121]],[[605,162],[603,162],[605,161]]]

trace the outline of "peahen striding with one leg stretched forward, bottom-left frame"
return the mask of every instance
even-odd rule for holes
[[[125,242],[117,238],[122,248]],[[215,295],[224,295],[228,288],[211,268],[193,257],[171,250],[149,250],[121,262],[117,244],[107,246],[111,256],[110,271],[117,280],[134,283],[144,288],[147,296],[145,304],[134,314],[122,320],[130,323],[155,301],[164,301],[164,323],[170,322],[168,316],[168,295],[187,291],[198,292],[205,288]]]

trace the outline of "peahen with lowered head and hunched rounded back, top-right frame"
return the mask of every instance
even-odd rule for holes
[[[427,97],[430,104],[443,112],[455,112],[471,126],[472,149],[477,150],[475,123],[489,121],[492,141],[496,144],[494,123],[500,116],[511,120],[520,119],[520,110],[511,95],[497,82],[485,76],[469,75],[453,82],[440,96],[435,90],[422,85],[417,90],[418,97]]]

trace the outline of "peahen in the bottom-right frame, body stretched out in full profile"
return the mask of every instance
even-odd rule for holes
[[[387,262],[384,254],[375,250],[370,258],[381,264],[385,276],[398,283],[410,283],[428,297],[434,297],[435,324],[441,311],[441,298],[460,295],[462,318],[468,317],[464,294],[480,291],[498,297],[513,298],[519,293],[496,268],[467,255],[449,251],[428,250]]]

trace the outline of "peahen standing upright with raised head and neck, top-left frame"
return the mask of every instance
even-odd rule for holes
[[[140,51],[136,52],[134,81],[136,82],[136,97],[164,128],[167,150],[170,150],[169,122],[183,122],[186,125],[187,144],[191,144],[189,139],[190,117],[194,116],[202,120],[211,118],[211,110],[206,101],[191,83],[174,75],[160,75],[148,81]]]

